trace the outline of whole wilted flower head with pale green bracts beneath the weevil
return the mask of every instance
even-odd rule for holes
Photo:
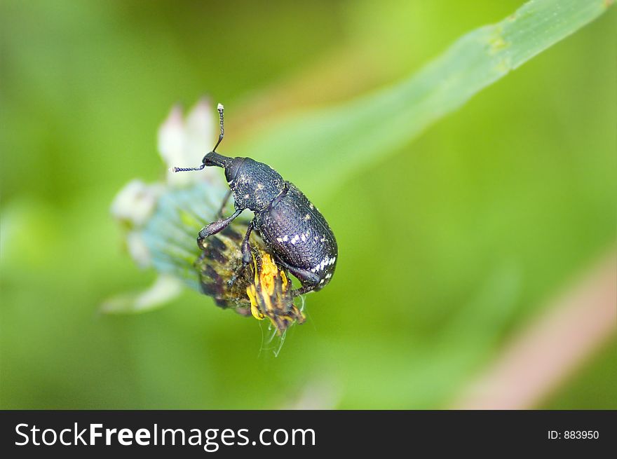
[[[213,168],[201,174],[172,172],[175,163],[203,158],[214,129],[208,100],[201,100],[186,118],[179,107],[174,107],[161,125],[158,142],[170,172],[154,184],[133,180],[114,199],[112,214],[126,233],[128,252],[140,266],[154,268],[158,278],[149,289],[108,299],[102,310],[151,310],[163,306],[187,286],[211,296],[222,308],[259,320],[267,318],[265,322],[276,329],[282,344],[285,331],[305,320],[302,308],[294,304],[304,301],[292,289],[290,273],[295,273],[264,242],[263,233],[250,232],[251,224],[240,219],[208,238],[199,238],[196,245],[194,235],[200,228],[221,218],[224,206],[219,205],[226,200],[229,183]],[[308,211],[313,210],[309,207]],[[294,241],[290,247],[303,244]],[[334,260],[324,264],[320,273],[333,269]]]

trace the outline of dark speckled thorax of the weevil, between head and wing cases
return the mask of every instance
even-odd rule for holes
[[[236,209],[262,212],[285,189],[285,181],[276,170],[251,158],[233,158],[225,177]]]

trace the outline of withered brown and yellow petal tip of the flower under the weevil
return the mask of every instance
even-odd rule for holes
[[[241,315],[258,320],[268,318],[279,335],[291,324],[304,322],[304,314],[294,305],[292,282],[285,268],[273,261],[262,240],[250,242],[252,262],[238,277],[243,264],[241,244],[245,224],[233,224],[217,235],[203,240],[203,253],[195,263],[201,290],[212,296],[217,306],[232,308]],[[231,279],[234,282],[230,282]]]

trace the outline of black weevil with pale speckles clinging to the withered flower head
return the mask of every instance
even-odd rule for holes
[[[228,158],[216,153],[224,135],[222,104],[217,109],[221,134],[212,151],[203,157],[201,166],[173,168],[173,172],[202,170],[206,166],[225,170],[229,192],[219,214],[222,214],[230,195],[233,195],[236,212],[202,228],[197,238],[198,246],[203,247],[205,238],[222,231],[243,210],[252,210],[255,218],[242,242],[243,259],[238,273],[251,261],[249,237],[255,230],[271,249],[276,261],[300,280],[302,287],[295,294],[322,289],[330,282],[337,266],[337,240],[330,226],[304,193],[290,181],[283,180],[269,165],[251,158]]]

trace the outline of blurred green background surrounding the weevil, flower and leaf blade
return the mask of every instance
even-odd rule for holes
[[[242,156],[251,128],[404,78],[520,4],[4,0],[1,408],[447,408],[614,247],[615,11],[316,200],[337,275],[276,358],[255,320],[195,292],[97,313],[155,278],[109,205],[163,177],[175,102],[224,102],[224,153]],[[281,172],[301,186],[301,165]],[[538,407],[617,408],[615,344]]]

